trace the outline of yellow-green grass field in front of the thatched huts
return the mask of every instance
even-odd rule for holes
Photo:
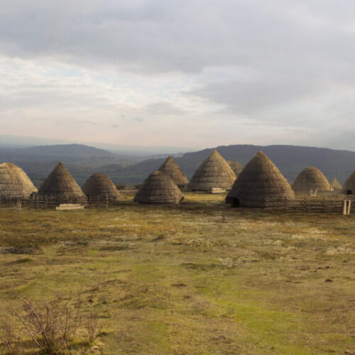
[[[80,294],[100,331],[69,354],[355,354],[354,216],[131,198],[0,209],[0,316]]]

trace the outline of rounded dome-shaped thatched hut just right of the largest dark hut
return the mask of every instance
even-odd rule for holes
[[[323,173],[314,166],[303,169],[293,182],[295,192],[310,192],[310,190],[330,191],[331,187]]]

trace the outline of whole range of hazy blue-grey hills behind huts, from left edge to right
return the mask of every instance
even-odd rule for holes
[[[195,170],[213,149],[215,148],[185,153],[175,160],[190,180]],[[319,168],[329,181],[337,177],[342,184],[355,170],[355,152],[352,151],[307,146],[245,144],[218,146],[216,149],[226,160],[237,160],[243,165],[246,165],[258,151],[263,151],[289,182],[293,182],[298,173],[307,166]],[[118,155],[82,144],[0,148],[0,163],[7,161],[21,166],[37,187],[59,161],[65,164],[80,185],[93,173],[104,173],[115,183],[133,185],[143,182],[167,157],[168,154],[164,158],[140,161],[137,157]]]

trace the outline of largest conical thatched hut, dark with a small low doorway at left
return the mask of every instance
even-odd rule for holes
[[[263,152],[258,152],[239,174],[226,203],[240,207],[265,207],[267,198],[292,200],[295,194],[273,162]]]

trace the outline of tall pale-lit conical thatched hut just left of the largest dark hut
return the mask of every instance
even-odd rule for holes
[[[236,174],[226,160],[215,149],[196,170],[188,185],[190,190],[208,191],[212,187],[229,190]]]

